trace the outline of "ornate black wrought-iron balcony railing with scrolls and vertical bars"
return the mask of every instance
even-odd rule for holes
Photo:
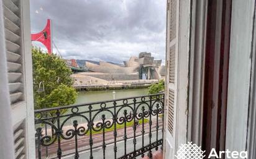
[[[152,157],[163,144],[164,94],[35,110],[37,158]]]

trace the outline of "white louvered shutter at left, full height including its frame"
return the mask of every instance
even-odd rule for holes
[[[15,158],[35,158],[29,0],[2,0]]]

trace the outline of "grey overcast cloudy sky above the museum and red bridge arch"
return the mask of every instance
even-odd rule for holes
[[[65,59],[122,63],[147,51],[164,60],[165,2],[31,0],[31,32],[40,32],[52,19],[53,41]]]

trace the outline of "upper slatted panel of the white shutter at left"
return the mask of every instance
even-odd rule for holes
[[[7,69],[11,105],[24,100],[21,54],[21,1],[3,1]]]

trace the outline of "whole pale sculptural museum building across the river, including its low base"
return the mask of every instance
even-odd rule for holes
[[[99,64],[86,61],[89,72],[78,72],[71,77],[75,85],[106,85],[126,80],[132,83],[142,80],[143,76],[153,82],[165,77],[165,66],[161,66],[161,63],[162,60],[154,60],[151,53],[140,53],[139,58],[132,56],[129,61],[124,61],[124,66],[104,61],[99,61]]]

